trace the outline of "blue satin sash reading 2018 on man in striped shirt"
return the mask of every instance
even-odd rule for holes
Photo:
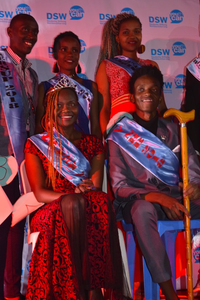
[[[22,93],[17,71],[6,51],[0,51],[0,94],[10,141],[18,167],[24,160],[24,144],[27,139],[22,104]],[[19,174],[20,191],[23,192]]]

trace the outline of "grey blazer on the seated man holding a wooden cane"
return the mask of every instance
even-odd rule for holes
[[[164,119],[158,120],[157,137],[163,140],[171,150],[181,145],[180,126]],[[145,169],[135,159],[130,157],[115,142],[108,140],[108,164],[107,169],[111,181],[111,186],[115,194],[115,211],[121,213],[121,208],[128,201],[141,199],[141,194],[149,192],[162,192],[177,199],[182,198],[182,193],[178,186],[168,186],[150,171]],[[176,156],[181,164],[181,149],[176,148]],[[188,139],[188,167],[189,180],[200,185],[200,165],[193,149],[192,143]],[[122,215],[118,215],[121,217]]]

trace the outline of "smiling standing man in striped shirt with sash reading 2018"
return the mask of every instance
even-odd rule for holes
[[[0,72],[0,155],[15,156],[20,167],[24,159],[25,141],[27,136],[34,134],[35,129],[38,78],[26,55],[37,42],[37,22],[30,15],[16,15],[10,21],[7,34],[10,46],[0,51],[0,68],[3,71]],[[20,196],[19,176],[16,175],[10,184],[3,186],[3,190],[14,204]],[[10,227],[11,220],[10,214],[0,225],[1,300],[4,297],[22,297],[20,288],[25,219],[14,227]]]

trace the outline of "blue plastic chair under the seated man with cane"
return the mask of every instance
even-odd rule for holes
[[[134,289],[134,271],[135,271],[135,230],[132,224],[126,224],[122,220],[122,225],[126,231],[127,237],[127,260],[130,273],[131,295],[133,297]],[[165,245],[172,269],[172,283],[176,291],[176,268],[175,268],[175,240],[178,232],[184,231],[183,221],[157,221],[158,232]],[[200,220],[190,220],[190,228],[200,228]],[[144,289],[145,300],[160,300],[160,286],[151,279],[151,274],[147,268],[143,257]]]

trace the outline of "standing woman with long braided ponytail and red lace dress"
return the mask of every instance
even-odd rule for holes
[[[103,27],[96,82],[99,91],[100,127],[104,137],[107,126],[110,127],[119,114],[132,114],[135,111],[129,92],[129,80],[135,69],[150,64],[159,68],[155,61],[137,57],[141,41],[142,24],[132,14],[118,14]],[[164,96],[158,109],[161,113],[167,109]]]

